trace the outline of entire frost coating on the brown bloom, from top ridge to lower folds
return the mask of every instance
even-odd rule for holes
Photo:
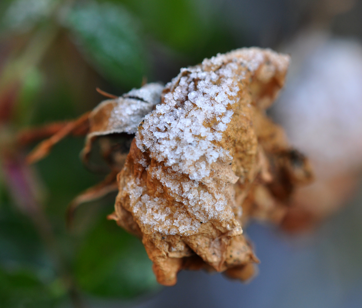
[[[219,221],[226,230],[241,234],[232,211],[232,184],[238,177],[232,171],[230,152],[219,142],[239,102],[238,83],[247,71],[265,62],[265,53],[279,70],[286,69],[287,56],[259,48],[240,49],[182,68],[166,85],[163,102],[146,115],[135,141],[140,151],[163,162],[150,164],[146,170],[157,192],[166,193],[174,203],[170,207],[169,201],[151,197],[147,187],[143,191],[130,180],[126,190],[132,211],[143,225],[161,234],[187,236],[198,232],[201,223]],[[215,170],[222,170],[228,180],[218,178]]]

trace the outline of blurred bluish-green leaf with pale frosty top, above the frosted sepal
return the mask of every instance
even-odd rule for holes
[[[120,4],[76,5],[66,26],[90,62],[116,85],[139,87],[147,70],[139,24]]]

